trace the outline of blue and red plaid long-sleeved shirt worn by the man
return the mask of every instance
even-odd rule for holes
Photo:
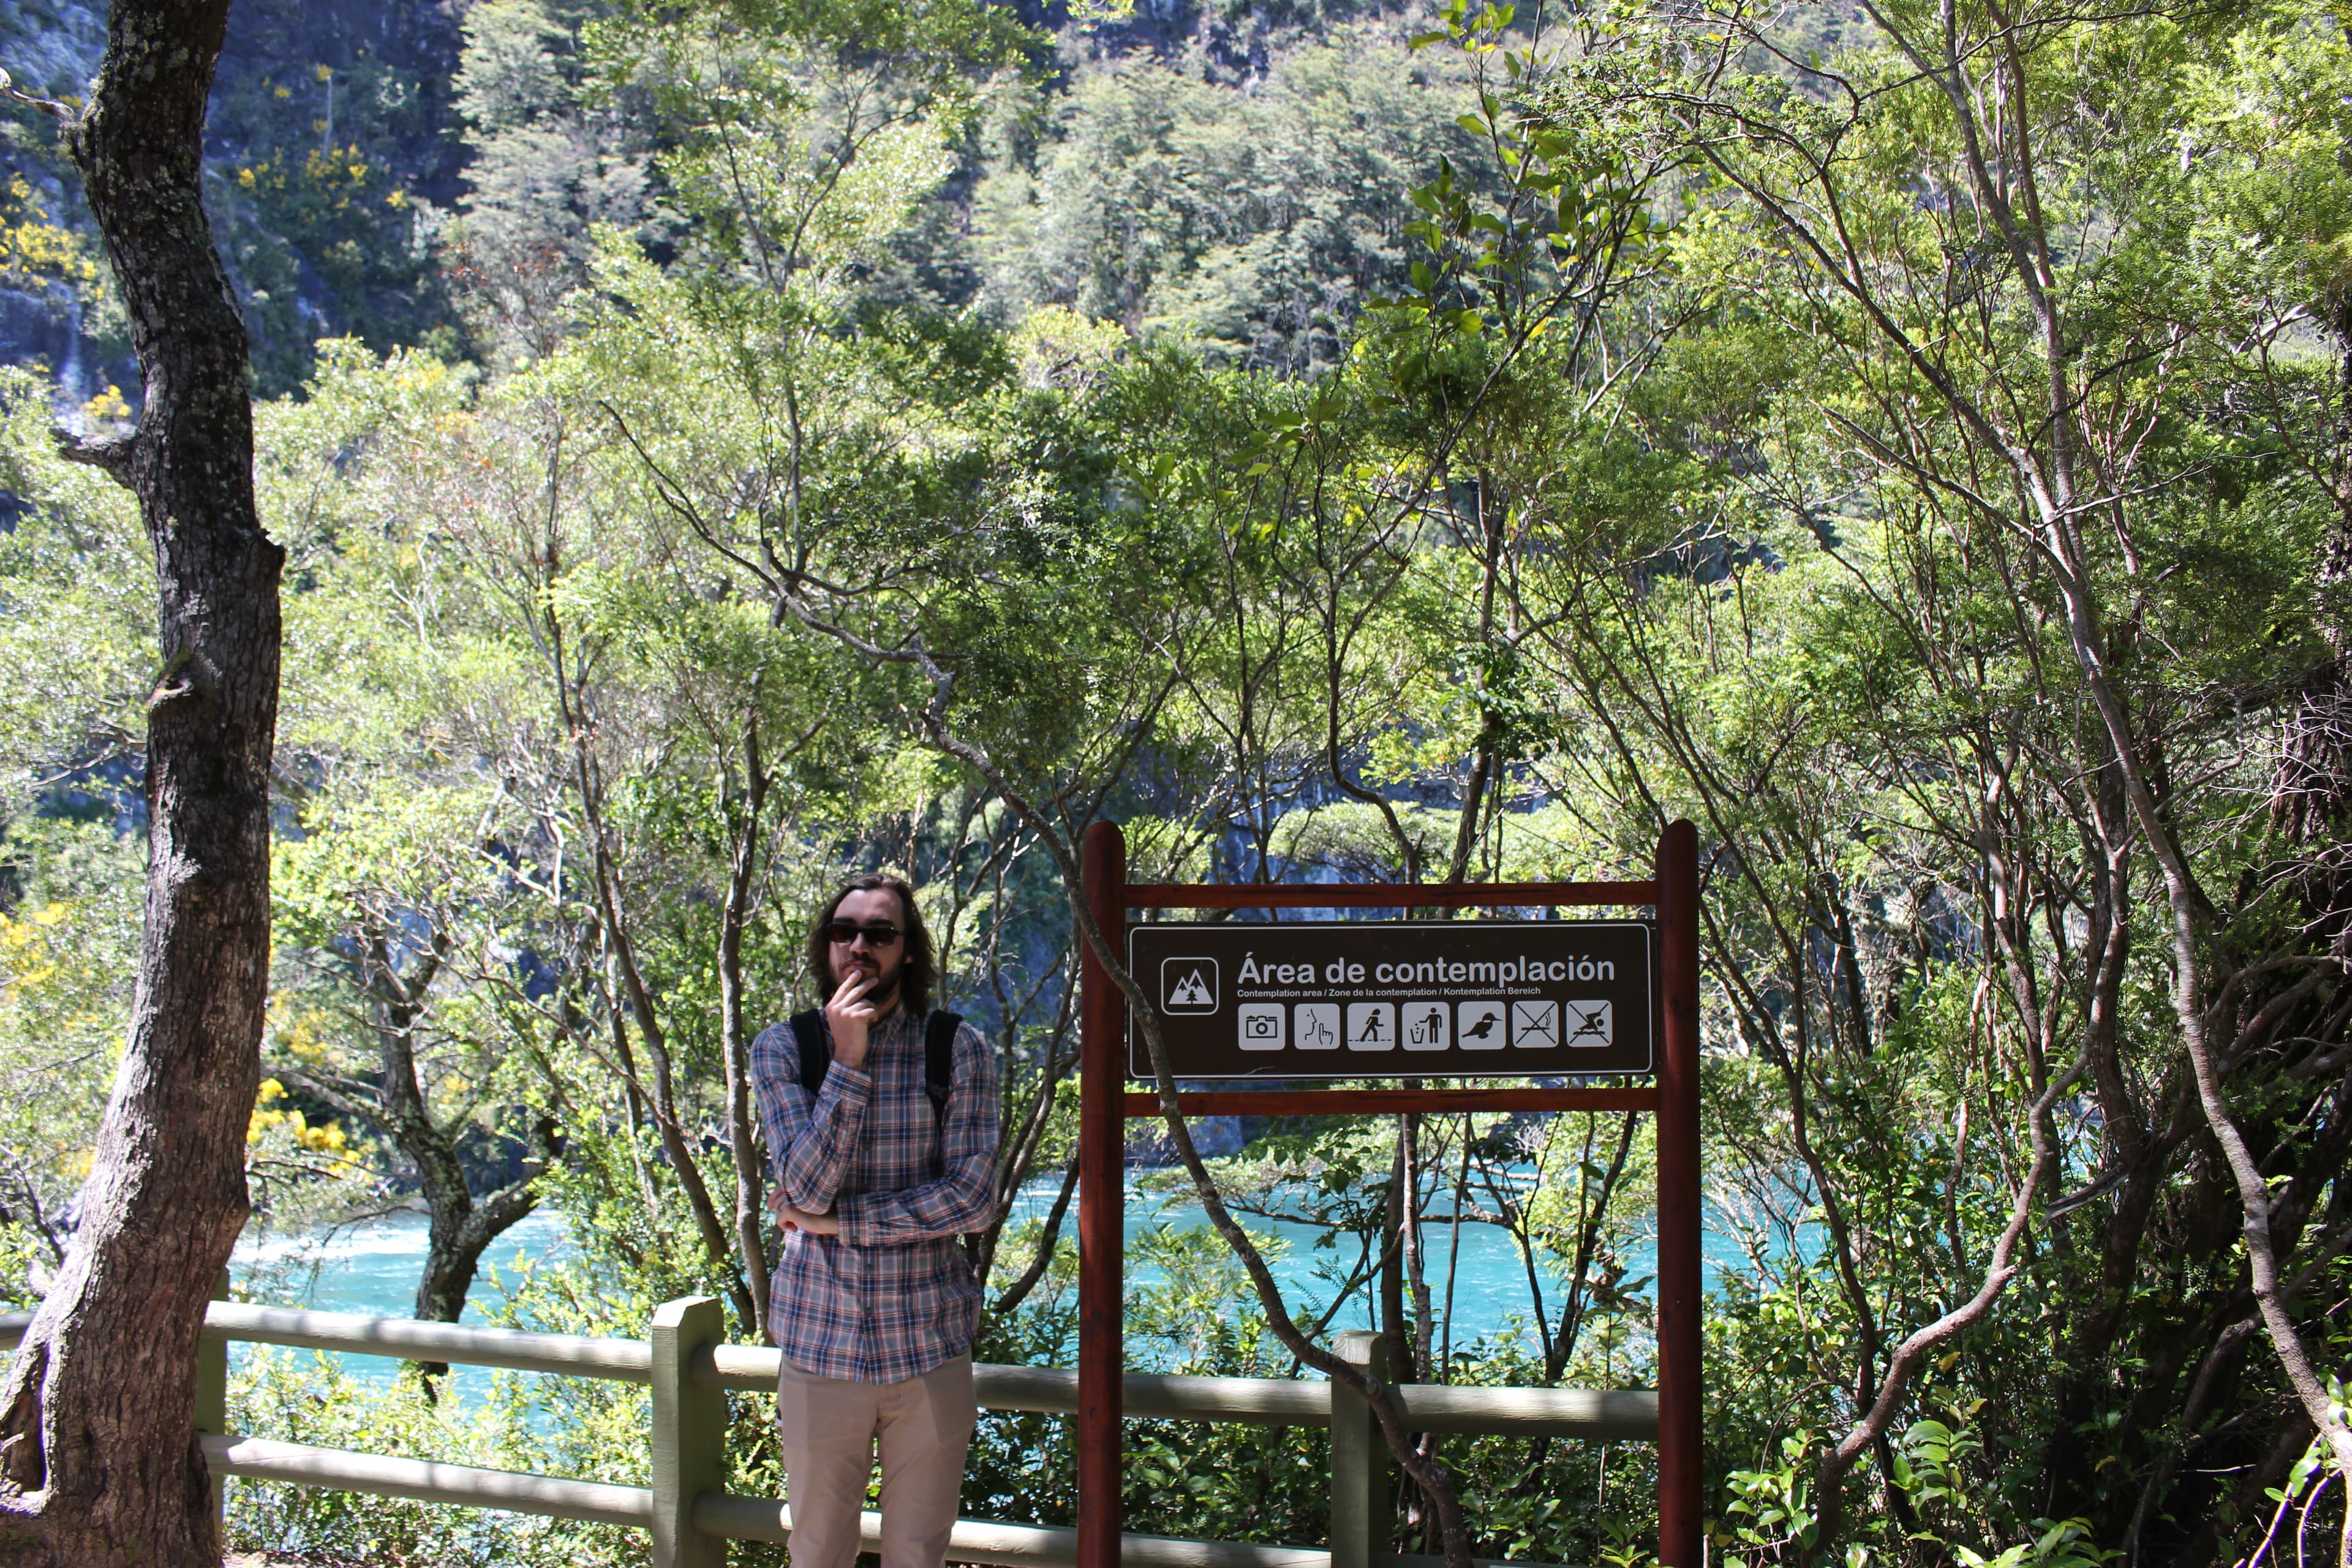
[[[821,1378],[898,1382],[971,1349],[981,1281],[957,1237],[988,1225],[997,1058],[969,1023],[955,1032],[941,1128],[922,1091],[922,1016],[896,1009],[868,1037],[866,1072],[835,1060],[814,1098],[793,1025],[750,1046],[776,1187],[842,1222],[840,1237],[783,1232],[769,1291],[776,1347]]]

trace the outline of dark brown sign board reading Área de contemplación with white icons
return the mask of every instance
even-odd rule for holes
[[[1651,1072],[1651,926],[1145,924],[1127,964],[1181,1079],[1524,1079]],[[1129,1018],[1127,1067],[1152,1074]]]

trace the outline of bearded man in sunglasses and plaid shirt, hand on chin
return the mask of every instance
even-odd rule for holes
[[[976,1420],[981,1284],[957,1237],[988,1225],[997,1063],[969,1023],[934,1023],[931,933],[896,877],[833,896],[809,973],[823,1013],[750,1053],[783,1225],[769,1331],[793,1563],[851,1566],[880,1439],[882,1568],[938,1568]]]

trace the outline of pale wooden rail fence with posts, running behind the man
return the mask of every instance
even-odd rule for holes
[[[0,1316],[0,1349],[24,1340],[28,1316]],[[781,1352],[724,1342],[724,1314],[708,1295],[663,1302],[644,1340],[562,1333],[515,1333],[421,1324],[416,1319],[294,1312],[212,1302],[205,1312],[205,1361],[198,1375],[198,1429],[214,1476],[325,1486],[379,1497],[416,1497],[463,1507],[593,1519],[649,1530],[654,1568],[722,1568],[729,1540],[781,1542],[790,1509],[774,1497],[724,1490],[727,1394],[776,1389]],[[562,1476],[475,1469],[381,1453],[278,1443],[228,1432],[228,1342],[296,1345],[343,1354],[499,1366],[564,1378],[609,1378],[652,1389],[652,1486],[607,1486]],[[1383,1371],[1381,1340],[1341,1335],[1341,1354]],[[976,1366],[974,1387],[988,1410],[1077,1410],[1077,1373],[1051,1366]],[[1489,1389],[1404,1385],[1404,1413],[1421,1432],[1571,1436],[1592,1441],[1658,1439],[1651,1389]],[[1388,1544],[1388,1446],[1371,1406],[1331,1382],[1282,1378],[1162,1378],[1127,1373],[1127,1418],[1254,1422],[1331,1429],[1329,1547],[1258,1547],[1221,1540],[1122,1535],[1120,1561],[1134,1568],[1432,1568],[1442,1559],[1395,1556]],[[880,1516],[866,1514],[866,1549],[880,1542]],[[1077,1533],[1054,1526],[960,1519],[948,1542],[953,1563],[1070,1568]]]

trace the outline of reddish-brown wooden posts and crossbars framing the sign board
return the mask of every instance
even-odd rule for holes
[[[1463,1110],[1649,1110],[1658,1114],[1658,1561],[1700,1568],[1698,1542],[1698,832],[1672,823],[1649,882],[1129,884],[1127,839],[1094,823],[1084,896],[1103,936],[1129,910],[1592,907],[1658,912],[1658,1077],[1649,1088],[1237,1088],[1181,1093],[1188,1117],[1315,1117]],[[1077,1095],[1077,1568],[1120,1563],[1120,1338],[1127,1253],[1127,1121],[1160,1114],[1127,1093],[1127,999],[1087,952],[1080,966]],[[1397,1070],[1399,1077],[1409,1070]]]

